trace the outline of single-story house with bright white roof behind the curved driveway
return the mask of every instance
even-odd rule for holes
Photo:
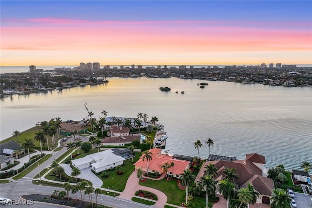
[[[114,154],[112,150],[100,151],[94,154],[89,154],[83,158],[72,160],[72,164],[80,170],[92,167],[92,170],[100,172],[117,165],[122,165],[125,158]]]

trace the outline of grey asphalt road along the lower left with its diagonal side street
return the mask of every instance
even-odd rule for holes
[[[87,137],[81,136],[81,139],[83,141],[88,140]],[[67,140],[71,141],[73,139]],[[60,151],[54,152],[52,157],[50,157],[48,160],[43,162],[39,165],[39,169],[43,170],[46,167],[48,167],[51,162],[55,159],[57,159],[59,156],[61,156],[63,153],[65,153],[67,150],[66,148],[62,148]],[[67,207],[63,205],[55,205],[50,203],[41,203],[41,202],[34,202],[34,204],[28,204],[28,205],[20,205],[18,204],[20,200],[21,195],[27,195],[27,194],[45,194],[45,195],[51,195],[55,189],[58,190],[64,190],[62,188],[58,187],[49,187],[49,186],[40,186],[40,185],[34,185],[32,183],[32,179],[39,173],[38,168],[28,173],[25,177],[21,178],[20,180],[6,183],[6,184],[0,184],[0,197],[6,197],[9,199],[16,200],[17,204],[11,204],[11,205],[4,205],[6,207],[12,207],[12,208],[20,208],[20,207],[29,207],[29,208],[42,208],[42,207],[49,207],[49,208],[59,208],[59,207]],[[70,193],[70,197],[75,198],[74,194]],[[80,197],[79,195],[77,196]],[[85,196],[88,200],[88,195]],[[95,200],[95,194],[93,194],[92,198]],[[98,204],[103,204],[109,207],[113,208],[150,208],[151,206],[143,205],[140,203],[132,202],[125,199],[120,199],[113,196],[108,195],[100,195],[98,194]],[[3,207],[4,207],[3,206]],[[153,206],[152,206],[153,207]],[[2,208],[2,205],[1,205]]]

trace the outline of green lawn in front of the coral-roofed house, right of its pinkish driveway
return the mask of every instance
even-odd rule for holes
[[[168,200],[167,203],[180,206],[185,201],[185,190],[181,190],[177,187],[176,180],[166,181],[166,178],[155,181],[147,179],[146,182],[139,182],[141,186],[151,187],[160,190],[166,194]]]

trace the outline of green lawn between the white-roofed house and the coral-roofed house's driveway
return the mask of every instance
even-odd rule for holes
[[[137,161],[138,158],[141,156],[141,152],[136,152],[136,157],[133,159]],[[133,170],[135,169],[134,163],[131,163],[131,159],[124,161],[124,166],[122,172],[123,175],[117,175],[117,170],[107,172],[109,177],[108,178],[101,178],[100,175],[98,177],[103,181],[102,188],[110,188],[117,191],[123,191],[126,187],[126,183],[130,175],[132,174]]]

